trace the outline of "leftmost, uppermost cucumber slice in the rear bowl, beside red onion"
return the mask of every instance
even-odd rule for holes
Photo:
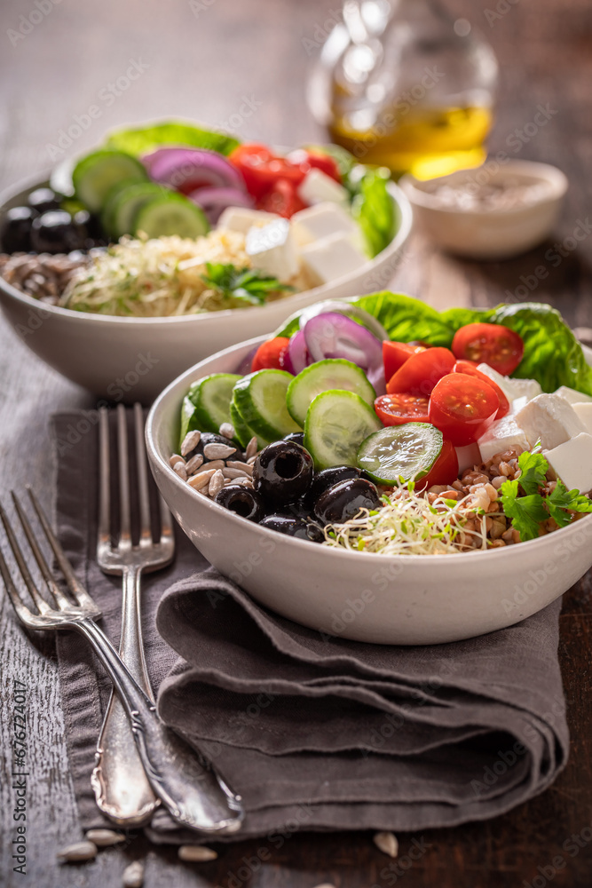
[[[148,174],[136,157],[122,151],[94,151],[72,170],[76,197],[91,213],[98,213],[111,188],[125,179],[147,182]]]

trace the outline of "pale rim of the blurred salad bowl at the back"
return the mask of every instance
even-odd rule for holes
[[[49,181],[49,174],[46,175],[45,178],[32,178],[28,180],[24,180],[20,182],[17,186],[12,186],[12,188],[5,189],[2,194],[0,194],[0,213],[4,210],[4,205],[14,200],[17,194],[20,194],[23,191],[27,191],[28,189],[33,189],[35,187],[42,187],[43,184]],[[401,247],[407,242],[407,238],[411,233],[411,228],[413,225],[413,208],[411,206],[411,202],[407,197],[407,194],[399,188],[394,182],[389,181],[388,188],[391,193],[391,197],[393,201],[399,207],[400,213],[400,225],[397,234],[393,237],[390,244],[384,248],[374,259],[368,259],[367,263],[359,268],[359,271],[356,274],[370,274],[372,272],[373,264],[375,260],[383,256],[384,253],[388,253],[389,256],[391,254],[396,253]],[[310,304],[311,294],[316,291],[319,292],[319,300],[321,301],[323,298],[323,289],[326,287],[338,287],[343,285],[346,281],[351,278],[351,274],[344,274],[340,278],[336,278],[335,281],[329,281],[328,284],[321,284],[320,287],[312,287],[311,289],[305,289],[300,293],[294,293],[292,296],[284,297],[283,299],[276,300],[275,302],[269,303],[268,305],[262,306],[251,306],[248,309],[244,308],[228,308],[222,312],[208,312],[203,314],[181,314],[173,317],[170,316],[162,316],[162,317],[154,317],[154,318],[127,318],[121,317],[117,314],[94,314],[91,312],[75,312],[71,308],[61,308],[59,305],[47,305],[44,302],[40,302],[39,299],[35,297],[28,296],[27,293],[23,293],[22,290],[16,289],[16,287],[12,287],[12,284],[4,281],[4,279],[0,280],[0,286],[7,291],[13,299],[16,299],[18,302],[23,305],[28,305],[31,308],[36,308],[43,312],[49,312],[54,315],[58,315],[61,317],[66,317],[70,319],[76,318],[83,323],[102,323],[102,324],[138,324],[142,327],[150,327],[157,326],[159,324],[179,324],[179,323],[207,323],[208,321],[214,321],[216,319],[222,319],[230,321],[231,318],[240,316],[240,313],[244,311],[257,312],[258,316],[269,313],[274,313],[275,308],[278,305],[278,302],[286,303],[288,306],[288,311],[286,316],[288,317],[290,314],[297,312],[301,307],[301,301],[305,305]],[[304,305],[304,307],[305,307]]]

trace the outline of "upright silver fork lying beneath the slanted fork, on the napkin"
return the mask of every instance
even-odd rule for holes
[[[161,535],[153,543],[144,444],[144,416],[134,405],[134,433],[138,475],[139,541],[133,545],[130,519],[130,463],[126,411],[117,408],[117,454],[119,481],[119,539],[111,543],[111,470],[109,459],[109,413],[99,410],[99,533],[97,561],[106,574],[122,576],[122,634],[119,655],[147,697],[153,699],[146,670],[140,617],[140,577],[142,573],[167,567],[175,555],[170,511],[159,497]],[[97,743],[97,764],[92,772],[92,788],[97,805],[120,826],[132,828],[150,820],[158,805],[136,744],[130,732],[122,702],[114,692],[105,713]]]

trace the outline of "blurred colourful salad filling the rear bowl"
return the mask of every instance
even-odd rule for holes
[[[283,153],[174,122],[115,131],[5,212],[0,274],[82,312],[263,305],[353,273],[391,242],[388,178],[332,145]]]

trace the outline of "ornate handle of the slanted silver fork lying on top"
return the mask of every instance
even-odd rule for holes
[[[231,833],[241,828],[241,797],[156,715],[150,701],[103,630],[84,617],[73,622],[91,643],[119,694],[146,776],[173,820],[189,829]]]

